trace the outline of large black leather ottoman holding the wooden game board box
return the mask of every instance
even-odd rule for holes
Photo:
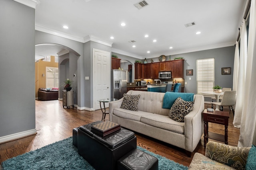
[[[78,128],[78,153],[96,170],[115,170],[117,160],[137,147],[137,138],[132,131],[121,128],[102,137],[92,133],[91,126]]]

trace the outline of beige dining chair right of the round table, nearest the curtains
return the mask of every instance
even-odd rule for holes
[[[223,94],[221,102],[211,102],[211,104],[220,106],[221,111],[223,111],[223,106],[229,107],[229,112],[232,109],[233,115],[235,115],[233,106],[236,104],[236,91],[225,91],[224,94]]]

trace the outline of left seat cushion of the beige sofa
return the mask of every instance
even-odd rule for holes
[[[132,111],[121,108],[116,108],[113,110],[113,114],[122,117],[124,119],[130,119],[134,121],[140,121],[140,118],[145,115],[152,115],[153,113],[145,112],[145,111]]]

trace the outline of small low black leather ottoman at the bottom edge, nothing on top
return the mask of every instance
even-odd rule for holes
[[[158,170],[158,158],[134,149],[118,160],[118,170]]]

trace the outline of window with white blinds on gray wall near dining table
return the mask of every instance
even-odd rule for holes
[[[196,60],[197,93],[212,91],[214,86],[214,58]]]

